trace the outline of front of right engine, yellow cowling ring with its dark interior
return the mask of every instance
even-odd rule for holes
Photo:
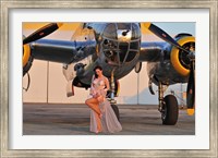
[[[181,36],[177,42],[186,50],[195,50],[195,37],[193,36]],[[173,46],[170,52],[170,61],[179,74],[182,76],[190,74],[190,58],[187,57],[187,52]]]

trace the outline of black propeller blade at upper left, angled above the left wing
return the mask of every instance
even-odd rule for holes
[[[62,26],[62,23],[50,23],[23,39],[23,45],[40,39]]]

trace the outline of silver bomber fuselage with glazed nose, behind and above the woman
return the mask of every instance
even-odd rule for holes
[[[80,61],[86,65],[83,71],[80,70],[81,73],[76,73],[82,83],[89,84],[96,65],[102,66],[107,77],[114,71],[116,80],[134,69],[138,61],[142,36],[138,23],[85,23],[78,29],[84,34],[74,35],[73,40],[96,41],[96,52]]]

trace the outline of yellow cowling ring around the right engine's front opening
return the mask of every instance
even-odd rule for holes
[[[181,37],[179,40],[177,40],[177,42],[180,46],[184,46],[189,42],[194,42],[195,44],[195,37],[193,36],[183,36]],[[194,48],[191,48],[194,49]],[[180,49],[178,49],[177,47],[172,47],[171,49],[171,53],[170,53],[170,61],[173,65],[173,68],[175,69],[175,71],[181,74],[182,76],[187,76],[190,74],[190,69],[185,68],[184,65],[182,65],[181,61],[180,61]],[[186,52],[184,52],[186,53]]]

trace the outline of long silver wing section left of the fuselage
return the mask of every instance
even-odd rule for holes
[[[31,44],[31,53],[34,59],[72,63],[95,53],[96,41],[66,41],[40,39]]]

